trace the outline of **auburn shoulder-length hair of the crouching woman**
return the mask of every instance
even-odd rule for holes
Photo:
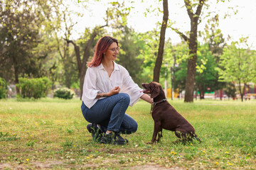
[[[107,51],[107,48],[110,47],[110,45],[113,42],[117,42],[117,47],[118,47],[117,39],[112,38],[110,36],[105,36],[100,38],[100,40],[98,40],[97,44],[94,47],[95,52],[92,57],[92,60],[90,62],[87,62],[87,67],[99,66],[103,59],[103,53]]]

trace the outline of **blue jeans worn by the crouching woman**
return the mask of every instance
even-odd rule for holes
[[[100,125],[103,131],[131,134],[137,131],[138,124],[125,113],[129,101],[128,94],[115,94],[98,100],[90,109],[82,102],[82,115],[89,123]]]

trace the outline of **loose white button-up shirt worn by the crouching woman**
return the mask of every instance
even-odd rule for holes
[[[129,106],[133,106],[143,95],[142,89],[134,83],[127,69],[114,62],[114,71],[110,77],[102,64],[98,67],[88,67],[82,89],[82,101],[87,108],[91,108],[97,100],[102,99],[96,98],[98,91],[107,93],[115,86],[120,87],[119,93],[129,94]]]

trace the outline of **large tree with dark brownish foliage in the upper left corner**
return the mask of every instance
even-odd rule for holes
[[[14,77],[15,84],[20,75],[38,77],[38,62],[46,57],[33,55],[41,42],[41,26],[46,26],[50,17],[46,1],[0,1],[0,67],[9,70],[7,74]]]

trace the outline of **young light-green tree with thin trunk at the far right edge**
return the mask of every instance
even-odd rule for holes
[[[240,42],[232,42],[231,45],[224,48],[223,55],[220,56],[220,65],[223,69],[218,68],[220,81],[233,82],[238,84],[241,100],[245,95],[245,86],[255,79],[255,50],[249,47],[242,48],[246,45],[246,38],[240,38]]]

